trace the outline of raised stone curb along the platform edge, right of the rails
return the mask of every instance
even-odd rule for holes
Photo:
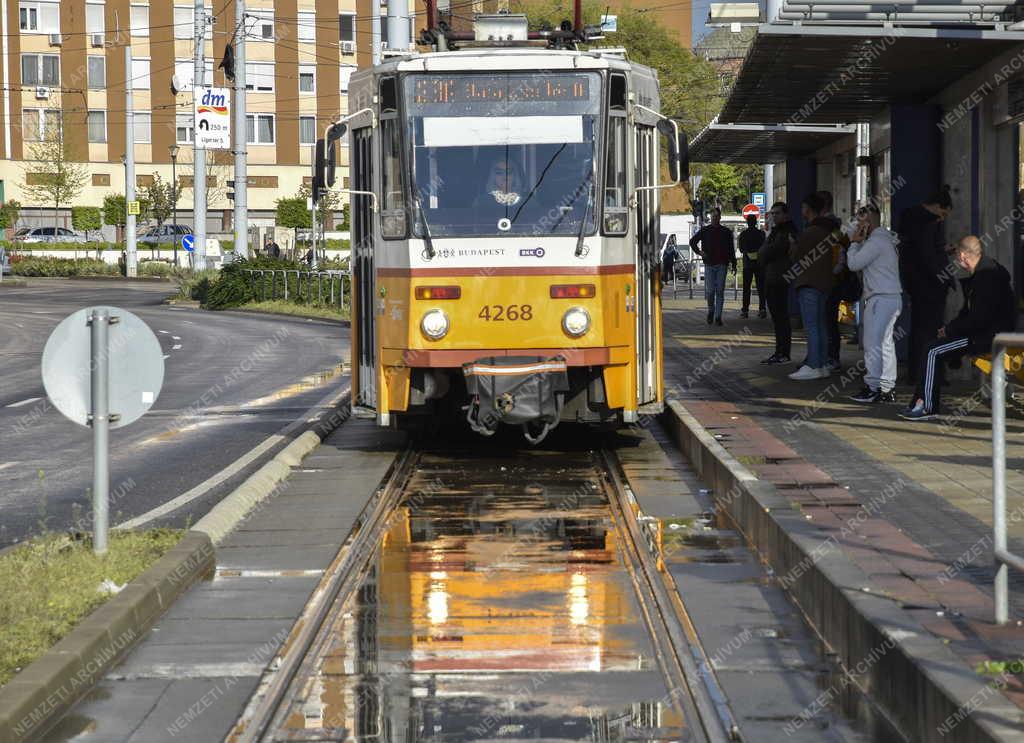
[[[775,574],[802,570],[785,589],[843,667],[874,658],[852,678],[900,733],[954,743],[1024,740],[1021,710],[882,592],[871,591],[858,566],[836,551],[819,555],[816,527],[774,485],[758,480],[678,401],[669,402],[664,420],[717,507]],[[952,729],[941,732],[950,720]]]

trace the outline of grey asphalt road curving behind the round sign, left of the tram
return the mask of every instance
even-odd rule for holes
[[[196,488],[347,384],[347,327],[163,304],[172,293],[169,283],[116,280],[0,288],[0,545],[43,528],[91,529],[91,432],[49,403],[40,376],[46,339],[75,310],[129,310],[165,354],[153,408],[111,433],[112,524]],[[155,523],[195,523],[286,443]]]

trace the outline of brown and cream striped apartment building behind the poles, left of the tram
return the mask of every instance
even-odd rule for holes
[[[184,189],[178,221],[191,224],[194,4],[4,2],[0,200],[20,202],[25,224],[43,223],[44,215],[52,224],[52,204],[33,204],[25,184],[34,177],[38,143],[56,127],[70,159],[88,164],[85,187],[69,207],[99,206],[106,194],[124,193],[130,86],[137,185],[152,183],[158,174],[171,181],[177,148],[175,175]],[[248,0],[244,19],[234,16],[233,0],[214,0],[207,16],[208,83],[229,87],[219,64],[225,46],[245,34],[249,209],[254,223],[269,224],[275,200],[294,195],[308,182],[316,132],[347,110],[358,46],[355,0]],[[229,231],[232,156],[216,151],[208,160],[207,228]],[[70,221],[69,215],[61,209],[58,219]]]

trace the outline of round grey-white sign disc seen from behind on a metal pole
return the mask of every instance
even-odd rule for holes
[[[134,423],[160,395],[164,352],[137,316],[119,307],[87,307],[60,321],[43,349],[43,387],[50,402],[79,426],[89,425],[92,409],[92,335],[88,319],[97,309],[112,318],[109,331],[111,428]]]

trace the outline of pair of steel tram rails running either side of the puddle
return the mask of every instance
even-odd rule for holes
[[[371,569],[373,555],[409,494],[411,479],[425,451],[411,445],[396,455],[226,740],[279,740],[275,732],[285,730],[288,715],[294,711],[293,702],[302,698],[305,681],[316,674],[317,663],[329,648],[331,636],[326,628],[344,610],[347,599],[358,591]],[[438,453],[436,449],[431,452]],[[453,464],[458,462],[454,458]],[[669,700],[683,709],[694,740],[740,740],[712,663],[671,577],[662,569],[649,530],[638,519],[637,500],[617,457],[610,449],[599,449],[592,460],[594,484],[604,491],[611,521],[623,537],[618,549],[669,689]]]

